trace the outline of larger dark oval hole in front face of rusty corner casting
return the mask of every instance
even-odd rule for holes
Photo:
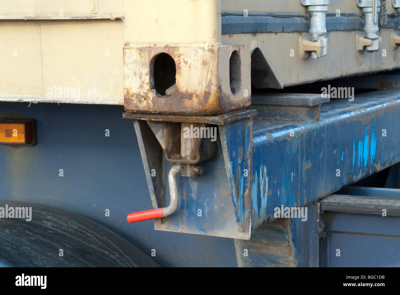
[[[176,83],[176,66],[174,59],[166,53],[154,56],[150,62],[150,87],[162,96],[170,96]],[[170,89],[168,89],[170,88]]]

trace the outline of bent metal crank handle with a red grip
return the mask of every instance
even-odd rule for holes
[[[129,213],[126,219],[129,222],[137,222],[144,221],[156,218],[166,217],[175,212],[176,208],[178,208],[178,186],[176,183],[176,175],[180,173],[180,164],[176,164],[172,166],[170,172],[168,173],[168,183],[170,186],[170,205],[164,208],[140,211]]]

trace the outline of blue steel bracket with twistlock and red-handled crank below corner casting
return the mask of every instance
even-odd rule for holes
[[[130,213],[127,220],[155,219],[158,230],[249,239],[255,115],[256,110],[211,116],[125,112],[123,118],[134,122],[154,208]],[[218,193],[204,193],[213,185]],[[218,220],[223,228],[215,227]]]

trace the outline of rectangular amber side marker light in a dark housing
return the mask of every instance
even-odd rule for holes
[[[34,146],[36,143],[36,120],[0,118],[0,144]]]

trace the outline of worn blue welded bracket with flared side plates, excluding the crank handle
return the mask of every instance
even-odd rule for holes
[[[204,168],[200,177],[177,176],[178,208],[168,217],[155,219],[154,229],[250,238],[252,117],[255,115],[255,110],[216,116],[124,113],[124,118],[134,120],[154,209],[169,204],[166,175],[172,163],[164,157],[163,147],[150,125],[183,122],[207,124],[218,130],[218,153],[212,159],[200,161]],[[210,140],[203,138],[202,142]]]

